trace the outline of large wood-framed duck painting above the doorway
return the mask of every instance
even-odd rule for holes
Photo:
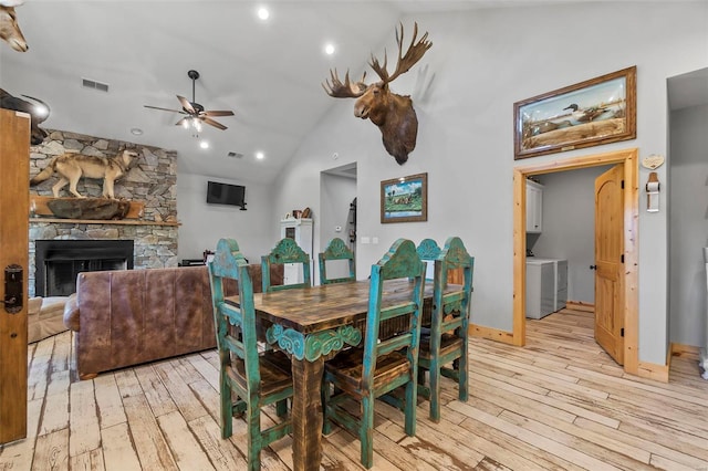
[[[517,102],[514,160],[634,139],[636,66]]]

